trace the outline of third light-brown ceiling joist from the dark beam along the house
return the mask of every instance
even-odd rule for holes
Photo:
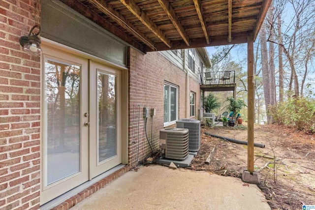
[[[159,4],[163,8],[163,10],[166,12],[167,16],[169,19],[172,21],[174,24],[175,28],[178,30],[179,34],[182,36],[183,40],[189,46],[189,37],[186,34],[183,26],[180,24],[173,7],[169,4],[168,0],[158,0]]]

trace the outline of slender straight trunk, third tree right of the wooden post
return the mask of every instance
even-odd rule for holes
[[[281,31],[281,17],[278,15],[278,37],[279,37],[279,102],[284,101],[284,66],[283,66],[283,42],[282,42],[282,31]]]

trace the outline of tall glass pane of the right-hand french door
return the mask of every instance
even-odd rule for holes
[[[117,154],[117,77],[97,72],[98,162]]]

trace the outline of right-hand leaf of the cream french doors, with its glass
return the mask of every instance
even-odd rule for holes
[[[121,71],[90,60],[90,179],[122,162]]]

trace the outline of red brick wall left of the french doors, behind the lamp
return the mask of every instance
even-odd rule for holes
[[[37,1],[0,1],[0,209],[39,209],[40,58],[19,43],[39,19]]]

